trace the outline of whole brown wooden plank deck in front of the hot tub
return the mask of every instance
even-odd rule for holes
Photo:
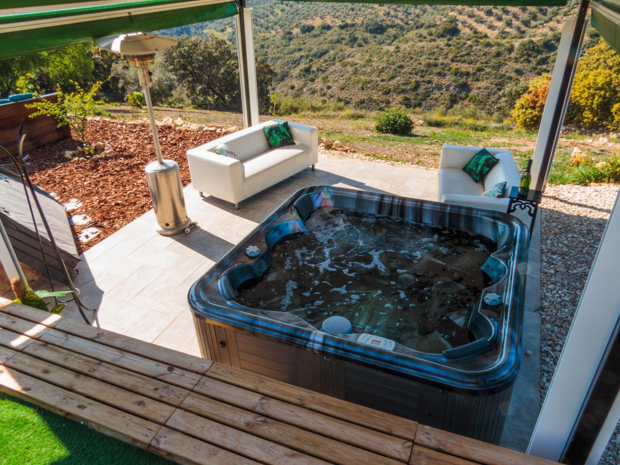
[[[0,391],[179,463],[552,463],[6,299]]]

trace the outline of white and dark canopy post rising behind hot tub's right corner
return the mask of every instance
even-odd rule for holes
[[[557,48],[556,64],[553,68],[547,101],[542,111],[541,125],[534,148],[532,179],[536,190],[544,191],[551,170],[564,115],[569,105],[570,89],[573,84],[577,61],[581,53],[583,35],[587,26],[586,14],[590,0],[582,0],[577,17],[566,18],[562,37]]]

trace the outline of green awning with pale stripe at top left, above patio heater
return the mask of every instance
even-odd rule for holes
[[[0,59],[236,13],[226,0],[0,0]]]

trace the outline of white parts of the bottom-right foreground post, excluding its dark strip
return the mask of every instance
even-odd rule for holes
[[[556,461],[560,459],[618,321],[619,198],[616,198],[598,246],[556,372],[529,441],[528,454]],[[616,417],[608,418],[600,438],[606,436],[609,440],[618,422],[617,404],[616,400],[608,415]],[[603,448],[599,442],[596,453],[602,453]],[[594,450],[588,463],[597,463],[600,459],[600,456],[595,457],[593,454]]]

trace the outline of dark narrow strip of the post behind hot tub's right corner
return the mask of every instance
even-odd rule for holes
[[[567,56],[564,74],[562,74],[562,81],[560,81],[556,106],[553,109],[553,115],[551,117],[551,126],[549,127],[549,134],[552,134],[553,137],[547,138],[544,152],[542,153],[542,162],[538,171],[538,179],[536,179],[536,190],[544,191],[547,185],[551,163],[553,162],[553,156],[556,152],[557,139],[559,139],[562,123],[564,122],[564,115],[567,105],[569,104],[570,88],[572,87],[573,77],[575,75],[575,65],[579,60],[583,34],[585,33],[584,26],[588,6],[590,6],[590,0],[582,0],[577,13],[577,23],[575,24],[573,35],[570,38],[569,56]]]

